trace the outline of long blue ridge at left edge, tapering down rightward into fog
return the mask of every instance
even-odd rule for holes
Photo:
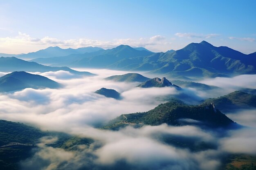
[[[16,57],[0,57],[0,71],[13,72],[13,71],[28,71],[28,72],[48,72],[48,71],[68,71],[76,75],[93,76],[90,72],[80,72],[72,70],[68,67],[51,67],[38,64],[36,62],[27,62]]]

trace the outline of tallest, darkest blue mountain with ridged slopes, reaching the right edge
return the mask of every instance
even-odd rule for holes
[[[225,46],[216,47],[206,41],[191,43],[173,53],[165,53],[158,61],[166,62],[152,73],[172,76],[216,77],[230,74],[255,74],[256,57]]]

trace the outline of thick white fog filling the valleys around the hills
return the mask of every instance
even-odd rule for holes
[[[225,137],[215,132],[195,127],[143,126],[126,127],[119,131],[100,130],[95,127],[121,114],[148,111],[161,104],[161,97],[184,93],[198,103],[201,99],[226,95],[241,87],[256,88],[255,75],[233,78],[205,79],[201,83],[219,86],[216,91],[198,91],[185,88],[135,88],[139,83],[112,82],[103,78],[128,72],[85,69],[98,74],[95,77],[79,77],[65,71],[39,73],[63,84],[60,89],[27,88],[15,93],[0,95],[0,119],[19,121],[40,127],[95,139],[89,147],[65,151],[44,145],[52,143],[42,139],[34,157],[22,162],[24,170],[81,170],[81,169],[141,169],[141,170],[218,170],[222,157],[227,153],[256,154],[256,110],[242,110],[231,119],[250,128],[231,130]],[[4,75],[5,73],[0,73]],[[143,74],[143,73],[142,73]],[[150,75],[144,76],[153,78]],[[163,76],[159,75],[159,78]],[[168,78],[170,81],[172,79]],[[105,87],[121,93],[121,100],[106,98],[94,93]],[[233,116],[232,116],[233,115]],[[243,116],[246,115],[246,116]],[[248,116],[249,115],[249,116]],[[254,127],[254,128],[253,128]],[[195,137],[198,141],[213,141],[216,149],[192,152],[175,148],[157,140],[155,134],[173,134]],[[49,140],[49,139],[48,139]],[[57,139],[53,139],[57,140]]]

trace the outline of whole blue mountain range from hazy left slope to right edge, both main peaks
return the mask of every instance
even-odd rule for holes
[[[191,43],[177,51],[153,53],[127,45],[92,53],[33,60],[54,66],[110,68],[149,71],[168,77],[229,77],[256,74],[256,53],[249,55],[226,46],[213,46],[206,41]]]

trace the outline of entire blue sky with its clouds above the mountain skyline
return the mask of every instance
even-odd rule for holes
[[[1,1],[0,53],[119,44],[158,52],[202,40],[252,53],[255,7],[255,0]]]

